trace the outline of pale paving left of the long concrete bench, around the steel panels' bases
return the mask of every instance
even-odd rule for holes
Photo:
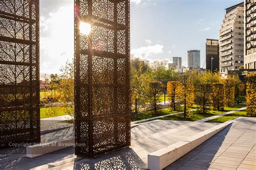
[[[163,120],[145,122],[131,128],[131,147],[91,160],[76,157],[74,147],[37,158],[26,158],[23,147],[9,148],[0,150],[0,169],[47,169],[51,166],[56,169],[147,168],[147,154],[218,124]]]

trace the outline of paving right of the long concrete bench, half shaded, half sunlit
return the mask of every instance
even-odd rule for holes
[[[165,169],[256,169],[256,118],[241,117]]]

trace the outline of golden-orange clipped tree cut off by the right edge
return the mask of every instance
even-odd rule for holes
[[[256,116],[256,73],[246,75],[246,105],[247,115]]]

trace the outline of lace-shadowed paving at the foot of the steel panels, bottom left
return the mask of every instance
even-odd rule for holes
[[[108,153],[95,159],[75,157],[75,148],[69,147],[36,158],[25,157],[25,147],[1,150],[0,169],[138,169],[146,168],[146,164],[132,150],[122,150]],[[72,160],[70,160],[72,159]],[[52,163],[64,161],[57,166]],[[66,161],[66,162],[65,162]],[[50,164],[51,163],[51,164]]]

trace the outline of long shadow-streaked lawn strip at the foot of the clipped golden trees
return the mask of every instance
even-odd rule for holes
[[[198,111],[193,111],[193,116],[191,118],[182,118],[179,115],[171,115],[171,116],[166,116],[163,118],[160,118],[161,120],[169,120],[169,121],[198,121],[200,119],[204,119],[207,117],[223,114],[224,112],[232,111],[232,110],[237,110],[238,108],[245,107],[245,104],[235,104],[234,107],[228,108],[225,107],[224,110],[210,110],[207,112],[207,114],[200,114]]]

